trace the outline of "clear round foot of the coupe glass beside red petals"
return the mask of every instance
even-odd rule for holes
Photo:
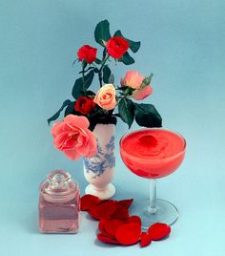
[[[177,221],[178,211],[174,204],[157,199],[157,210],[155,213],[149,211],[149,205],[149,199],[139,200],[134,201],[130,208],[131,215],[137,215],[141,218],[141,227],[143,229],[148,229],[151,224],[155,223],[172,225]]]

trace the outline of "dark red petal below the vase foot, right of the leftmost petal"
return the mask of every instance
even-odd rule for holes
[[[100,203],[89,210],[89,214],[96,220],[109,219],[116,209],[116,203],[113,200],[108,200]]]

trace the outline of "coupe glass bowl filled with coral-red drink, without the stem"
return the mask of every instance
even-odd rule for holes
[[[181,164],[185,146],[185,139],[172,131],[142,129],[120,140],[120,154],[134,174],[158,179],[173,173]]]

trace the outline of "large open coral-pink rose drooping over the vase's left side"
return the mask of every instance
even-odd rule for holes
[[[81,156],[93,157],[97,152],[96,139],[88,129],[87,117],[68,115],[63,121],[55,122],[51,128],[54,147],[71,160]]]

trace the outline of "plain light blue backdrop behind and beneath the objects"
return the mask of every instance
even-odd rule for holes
[[[36,255],[224,255],[225,51],[224,1],[0,0],[0,251]],[[96,23],[108,18],[142,42],[132,67],[153,72],[148,98],[164,126],[188,143],[179,171],[158,181],[158,197],[180,211],[171,237],[140,249],[95,241],[96,223],[83,215],[77,235],[38,232],[38,184],[64,168],[86,185],[82,161],[54,150],[46,119],[71,97],[77,49],[95,45]],[[133,125],[132,129],[137,128]],[[121,122],[116,139],[127,131]],[[126,170],[118,155],[115,198],[145,198],[148,181]]]

